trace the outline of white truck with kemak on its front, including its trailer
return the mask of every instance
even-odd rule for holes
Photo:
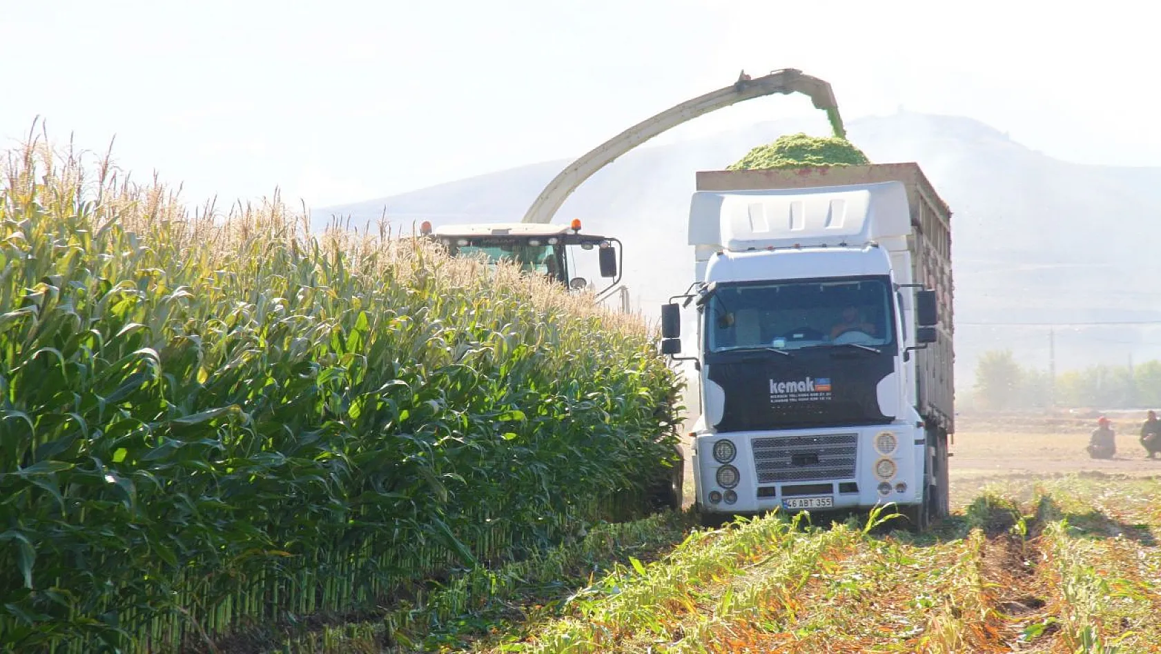
[[[695,504],[731,515],[895,503],[947,514],[951,212],[915,164],[698,174]],[[691,304],[694,308],[691,308]]]

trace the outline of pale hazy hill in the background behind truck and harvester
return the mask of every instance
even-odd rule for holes
[[[695,170],[721,169],[756,144],[807,129],[801,121],[759,123],[708,138],[637,148],[569,198],[560,220],[627,246],[626,283],[647,315],[692,281],[685,245]],[[958,376],[969,382],[979,353],[1011,348],[1048,365],[1046,327],[994,322],[1161,320],[1153,281],[1161,275],[1161,168],[1089,166],[1053,159],[978,121],[900,112],[849,125],[875,162],[917,161],[951,205],[957,284]],[[383,216],[414,223],[519,220],[568,160],[460,180],[312,213],[363,225]],[[1058,328],[1057,368],[1161,357],[1161,327]],[[962,387],[962,386],[961,386]]]

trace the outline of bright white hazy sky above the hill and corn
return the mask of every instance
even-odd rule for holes
[[[280,186],[318,208],[575,157],[741,68],[796,67],[848,121],[902,106],[1072,161],[1161,165],[1145,5],[1060,6],[0,0],[0,138],[42,116],[87,148],[116,135],[122,167],[190,201]],[[664,138],[813,111],[767,97]]]

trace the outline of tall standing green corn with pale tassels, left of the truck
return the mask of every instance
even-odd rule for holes
[[[0,166],[0,649],[389,605],[669,465],[678,382],[633,318],[276,196],[187,212],[46,139]]]

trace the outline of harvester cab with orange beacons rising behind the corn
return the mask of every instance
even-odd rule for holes
[[[596,283],[578,275],[597,253],[600,277],[612,278],[597,291],[601,297],[621,279],[621,241],[612,237],[580,233],[580,220],[570,225],[535,223],[484,223],[470,225],[420,225],[420,233],[447,247],[452,256],[481,257],[485,263],[509,261],[528,274],[543,275],[574,291],[596,290]],[[590,264],[591,266],[591,264]]]

